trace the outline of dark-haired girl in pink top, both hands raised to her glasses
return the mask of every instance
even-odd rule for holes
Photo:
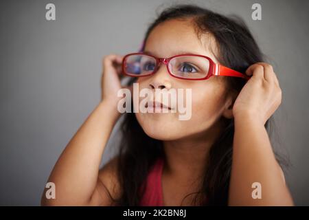
[[[44,192],[42,204],[293,205],[266,131],[282,91],[273,67],[262,63],[262,53],[246,25],[196,5],[174,6],[150,25],[141,52],[152,61],[197,54],[251,78],[189,80],[198,72],[190,63],[172,74],[168,70],[173,64],[168,69],[150,63],[148,70],[156,71],[132,78],[130,85],[136,82],[139,89],[162,91],[192,89],[192,117],[125,113],[119,154],[99,170],[120,116],[117,91],[122,89],[119,76],[124,61],[116,54],[104,57],[102,100],[52,170],[48,181],[56,185],[56,199],[47,199]],[[183,77],[174,77],[174,71]]]

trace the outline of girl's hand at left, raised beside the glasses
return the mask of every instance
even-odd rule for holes
[[[104,56],[102,61],[101,99],[117,108],[117,92],[122,89],[120,77],[122,76],[122,58],[117,54]],[[117,111],[117,110],[116,110]]]

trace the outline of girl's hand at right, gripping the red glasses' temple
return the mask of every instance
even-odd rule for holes
[[[273,67],[267,63],[251,65],[246,74],[252,76],[242,87],[233,104],[233,117],[250,116],[263,125],[282,101],[282,90]]]

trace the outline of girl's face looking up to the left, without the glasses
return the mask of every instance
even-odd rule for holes
[[[202,42],[202,43],[201,43]],[[199,41],[190,21],[170,20],[157,25],[146,41],[144,51],[158,58],[168,58],[178,54],[201,54],[209,56],[218,63],[212,51],[216,43],[211,34],[205,34]],[[190,120],[179,120],[176,113],[135,113],[137,121],[150,137],[158,140],[179,140],[183,137],[211,134],[218,131],[218,119],[232,117],[231,96],[225,96],[227,83],[225,76],[212,76],[208,80],[183,80],[168,74],[165,65],[161,65],[152,76],[140,77],[139,91],[152,89],[192,89],[192,114]],[[164,92],[164,91],[162,91]],[[185,96],[184,96],[185,97]],[[141,101],[144,98],[139,98]],[[185,100],[183,100],[185,103]],[[169,107],[177,107],[170,103]],[[178,109],[178,108],[176,108]],[[187,109],[189,111],[190,109]],[[182,113],[183,114],[183,113]]]

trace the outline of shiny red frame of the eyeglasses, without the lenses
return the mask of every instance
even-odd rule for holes
[[[124,67],[124,61],[126,60],[126,58],[128,56],[131,56],[131,55],[150,56],[150,57],[156,59],[157,65],[156,65],[155,69],[153,70],[153,72],[151,72],[150,74],[145,74],[143,76],[135,76],[133,74],[128,74],[125,70],[125,67]],[[206,58],[209,61],[209,70],[208,70],[207,75],[204,78],[185,78],[185,77],[181,77],[181,76],[174,76],[170,72],[170,69],[168,68],[168,64],[170,63],[170,60],[172,58],[175,58],[175,57],[178,57],[178,56],[200,56],[200,57]],[[183,80],[207,80],[211,76],[233,76],[233,77],[244,78],[245,80],[249,80],[249,78],[251,78],[251,76],[247,76],[246,74],[242,74],[240,72],[237,72],[236,70],[230,69],[229,67],[225,67],[225,66],[220,65],[218,63],[214,63],[214,61],[212,61],[211,58],[209,58],[208,56],[203,56],[203,55],[198,55],[198,54],[179,54],[179,55],[171,56],[169,58],[157,58],[157,57],[152,56],[150,54],[145,54],[145,53],[140,53],[140,52],[139,53],[126,54],[124,56],[124,58],[122,59],[122,72],[126,76],[131,76],[131,77],[151,76],[152,74],[155,74],[157,72],[161,63],[163,63],[163,65],[166,65],[166,68],[168,69],[168,73],[170,74],[170,76],[175,77],[175,78],[180,78],[180,79],[183,79]]]

